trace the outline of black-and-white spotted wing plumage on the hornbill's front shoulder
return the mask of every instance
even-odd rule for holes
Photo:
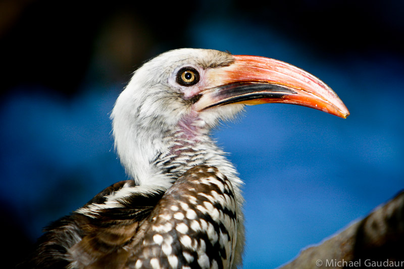
[[[236,243],[236,208],[226,176],[214,167],[191,168],[151,212],[143,240],[128,247],[136,249],[128,259],[128,268],[140,268],[139,264],[150,268],[230,267]]]

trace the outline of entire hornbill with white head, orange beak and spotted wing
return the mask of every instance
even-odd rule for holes
[[[183,48],[134,72],[111,114],[130,180],[46,228],[30,268],[234,268],[244,245],[234,166],[210,137],[244,105],[291,103],[341,118],[338,96],[287,63]]]

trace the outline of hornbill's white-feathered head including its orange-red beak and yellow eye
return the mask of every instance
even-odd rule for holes
[[[178,130],[203,139],[244,105],[291,103],[346,118],[348,110],[321,80],[287,63],[212,49],[176,49],[134,72],[113,109],[115,146],[126,171],[142,181]],[[172,145],[171,145],[172,147]]]

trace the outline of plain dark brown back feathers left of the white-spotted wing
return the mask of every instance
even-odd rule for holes
[[[93,204],[106,204],[107,197],[122,188],[133,188],[133,181],[121,181],[106,188],[80,209]],[[45,229],[38,239],[34,253],[19,268],[98,268],[98,265],[115,264],[127,254],[123,247],[133,241],[163,192],[132,192],[120,201],[119,206],[101,208],[94,214],[84,214],[80,209]],[[102,266],[102,268],[105,265]]]

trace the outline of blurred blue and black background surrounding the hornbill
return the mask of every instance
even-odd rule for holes
[[[49,222],[126,179],[110,112],[131,72],[173,48],[289,62],[351,112],[251,106],[215,131],[245,181],[244,268],[287,262],[404,187],[404,2],[100,3],[0,2],[6,267]]]

